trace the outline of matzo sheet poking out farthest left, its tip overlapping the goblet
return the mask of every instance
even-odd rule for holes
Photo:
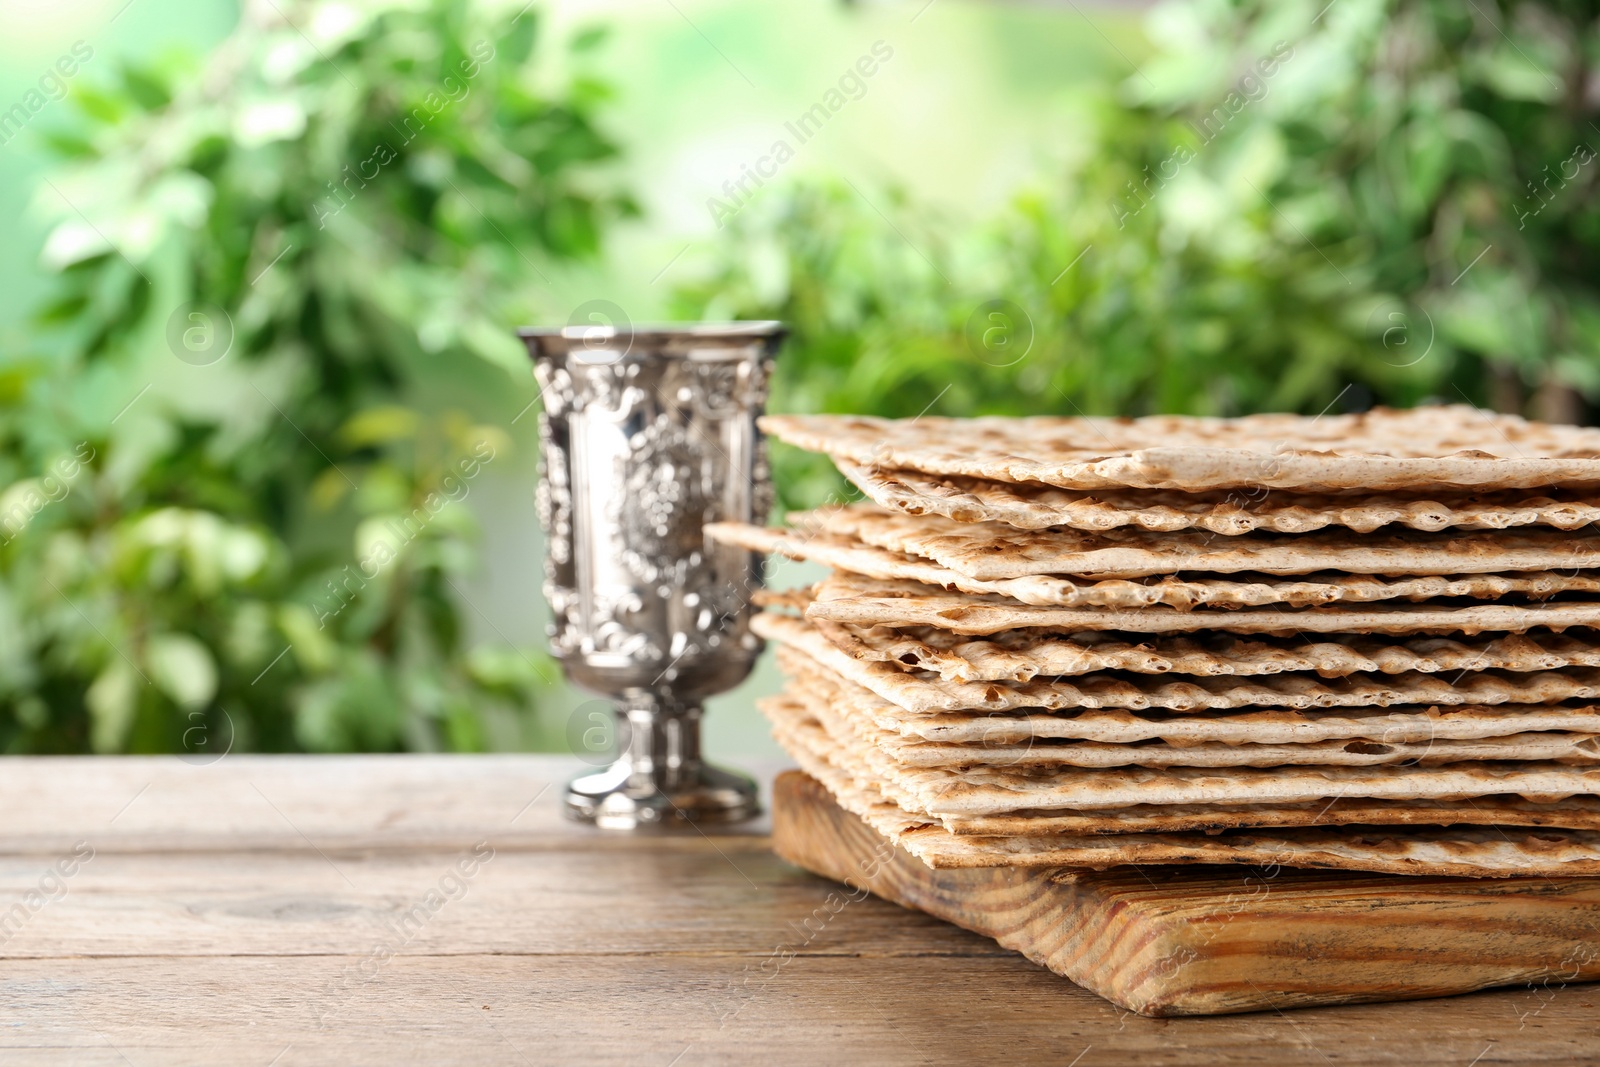
[[[1424,577],[1371,577],[1368,574],[1315,573],[1306,577],[1238,576],[1232,579],[1146,576],[1139,581],[1026,574],[989,581],[954,571],[941,563],[880,549],[848,534],[792,534],[746,523],[710,523],[706,533],[725,544],[752,552],[776,552],[882,581],[914,581],[974,595],[1010,597],[1026,605],[1061,608],[1251,608],[1288,605],[1306,608],[1326,603],[1378,600],[1437,600],[1440,597],[1544,598],[1560,592],[1600,592],[1592,573],[1530,571],[1523,574],[1466,574]],[[1050,534],[1040,534],[1048,537]]]

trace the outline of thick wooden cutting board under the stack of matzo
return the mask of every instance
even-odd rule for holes
[[[856,891],[994,937],[1144,1016],[1600,981],[1600,878],[933,870],[800,771],[773,784],[773,848]]]

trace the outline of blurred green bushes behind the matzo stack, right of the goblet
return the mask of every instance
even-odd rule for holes
[[[1600,5],[1194,0],[1149,34],[1083,163],[1000,218],[765,194],[680,310],[787,320],[795,411],[1600,398]],[[790,506],[843,491],[774,462]]]

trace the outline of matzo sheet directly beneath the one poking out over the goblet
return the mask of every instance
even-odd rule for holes
[[[1299,611],[1248,608],[1240,611],[1179,611],[1155,606],[1120,608],[1042,608],[1005,597],[941,592],[923,585],[923,593],[906,585],[878,585],[862,592],[848,574],[818,582],[806,606],[808,619],[829,619],[854,625],[926,625],[952,633],[987,635],[1014,629],[1075,633],[1080,630],[1120,630],[1125,633],[1526,633],[1528,630],[1600,625],[1600,601],[1557,601],[1539,605],[1478,603],[1462,606],[1373,605],[1302,608]]]

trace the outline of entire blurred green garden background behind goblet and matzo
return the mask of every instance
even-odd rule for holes
[[[578,744],[518,325],[782,318],[784,411],[1600,400],[1595,3],[0,27],[10,753]],[[786,506],[843,491],[774,466]],[[712,702],[714,758],[776,752],[771,689]]]

